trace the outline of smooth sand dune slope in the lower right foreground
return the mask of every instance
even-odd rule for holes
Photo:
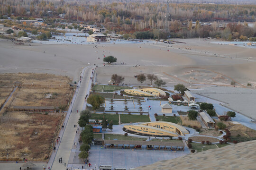
[[[136,170],[255,170],[255,152],[256,141],[249,141],[158,161]]]

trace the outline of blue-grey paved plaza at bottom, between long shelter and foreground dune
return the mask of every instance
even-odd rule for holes
[[[156,151],[144,149],[101,149],[101,145],[92,145],[90,149],[89,162],[92,168],[100,165],[111,165],[114,168],[136,168],[157,161],[174,159],[190,153],[188,148],[185,151]],[[92,169],[91,168],[91,169]]]

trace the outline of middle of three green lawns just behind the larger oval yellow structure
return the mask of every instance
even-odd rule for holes
[[[134,123],[134,122],[149,122],[149,117],[147,115],[128,115],[120,114],[120,119],[122,123]]]

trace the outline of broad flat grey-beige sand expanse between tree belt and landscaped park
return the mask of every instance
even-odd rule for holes
[[[82,67],[93,64],[102,66],[103,55],[113,55],[118,59],[117,64],[124,62],[123,66],[131,68],[119,67],[112,71],[111,68],[98,69],[99,73],[106,73],[103,79],[98,74],[100,83],[107,83],[114,72],[131,76],[124,81],[125,84],[135,84],[137,81],[133,81],[132,76],[142,71],[158,74],[166,80],[167,85],[189,82],[190,77],[193,84],[230,85],[234,79],[241,85],[248,82],[256,85],[256,75],[253,74],[256,71],[256,49],[213,44],[198,39],[180,41],[187,43],[101,43],[96,44],[98,48],[95,48],[95,44],[31,43],[31,46],[19,46],[1,40],[0,73],[43,72],[66,75],[76,80]],[[141,67],[133,68],[135,65]]]

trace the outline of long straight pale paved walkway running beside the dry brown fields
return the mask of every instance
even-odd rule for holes
[[[64,129],[61,129],[59,134],[61,142],[56,145],[56,151],[53,151],[47,164],[47,167],[50,167],[51,170],[65,169],[64,163],[66,163],[66,165],[68,164],[71,150],[77,146],[77,144],[73,146],[73,141],[77,138],[77,136],[79,136],[80,132],[77,132],[76,134],[77,128],[79,127],[74,127],[74,125],[77,125],[77,121],[80,117],[79,112],[83,108],[84,97],[88,91],[89,82],[91,82],[90,68],[92,67],[86,67],[82,70],[82,82],[77,84],[78,87],[76,89],[76,93],[73,96],[72,104],[69,107],[66,118],[64,120]],[[76,110],[78,110],[78,113]],[[59,163],[60,157],[62,157],[62,163]]]

